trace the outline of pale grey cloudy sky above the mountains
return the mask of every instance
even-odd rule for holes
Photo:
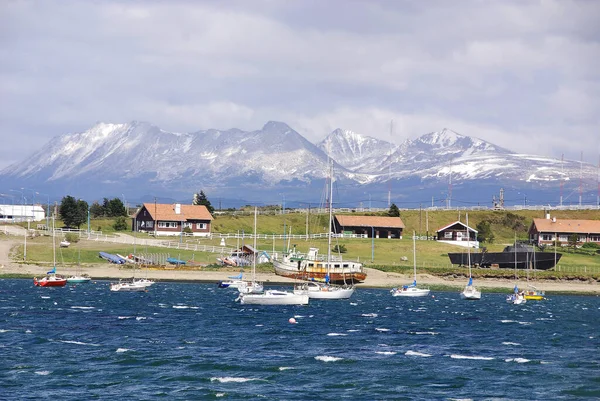
[[[336,128],[396,144],[449,128],[598,165],[597,21],[594,0],[5,0],[0,169],[133,120],[276,120],[314,143]]]

